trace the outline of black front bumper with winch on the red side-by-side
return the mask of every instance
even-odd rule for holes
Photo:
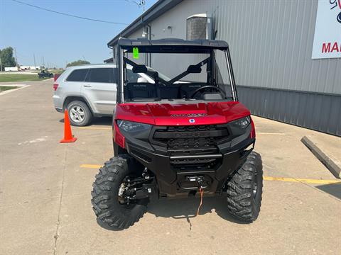
[[[229,176],[245,162],[247,155],[252,151],[255,139],[250,137],[249,131],[220,145],[219,152],[215,154],[174,157],[151,146],[138,145],[136,141],[129,140],[129,137],[126,137],[125,147],[132,157],[156,176],[160,198],[187,197],[190,193],[195,195],[195,191],[199,188],[197,179],[202,180],[201,185],[206,196],[214,196],[222,191]],[[195,159],[215,159],[217,164],[210,169],[178,169],[174,167],[176,160]]]

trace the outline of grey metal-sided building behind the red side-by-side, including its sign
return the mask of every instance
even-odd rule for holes
[[[120,37],[226,40],[239,101],[251,113],[341,136],[340,2],[160,0],[108,46],[116,62]]]

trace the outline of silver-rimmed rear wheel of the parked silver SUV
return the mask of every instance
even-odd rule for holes
[[[87,104],[82,101],[72,101],[67,105],[71,125],[85,126],[92,120],[92,113]]]

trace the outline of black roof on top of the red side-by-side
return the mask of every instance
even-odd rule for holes
[[[183,40],[159,39],[148,40],[120,38],[119,47],[132,52],[133,47],[138,47],[139,52],[209,52],[210,50],[227,50],[229,45],[223,40]]]

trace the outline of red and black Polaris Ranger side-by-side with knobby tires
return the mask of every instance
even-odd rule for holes
[[[153,69],[141,64],[142,55]],[[126,228],[151,199],[202,192],[226,196],[237,219],[256,220],[262,163],[252,151],[254,123],[238,101],[227,42],[122,38],[117,64],[114,157],[99,169],[92,191],[98,220]],[[153,83],[127,75],[127,64]]]

